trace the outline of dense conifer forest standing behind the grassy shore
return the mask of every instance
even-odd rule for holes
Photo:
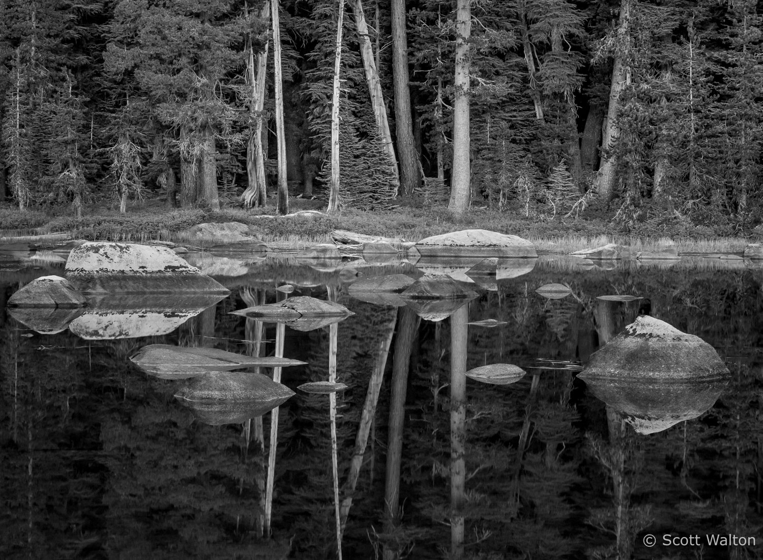
[[[0,204],[747,229],[761,18],[755,0],[3,0]]]

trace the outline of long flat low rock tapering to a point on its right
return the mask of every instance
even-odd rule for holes
[[[130,356],[130,362],[143,372],[164,379],[189,378],[209,372],[229,372],[250,367],[285,368],[306,363],[288,358],[244,356],[215,348],[169,344],[143,346]]]

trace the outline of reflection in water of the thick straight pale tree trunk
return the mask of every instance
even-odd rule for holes
[[[466,346],[469,306],[450,316],[450,558],[464,557]]]

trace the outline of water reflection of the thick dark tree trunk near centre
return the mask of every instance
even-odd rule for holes
[[[391,532],[399,521],[400,463],[403,453],[403,423],[405,397],[408,382],[410,352],[414,346],[419,317],[410,307],[398,311],[398,336],[394,342],[392,359],[392,386],[389,407],[389,434],[387,446],[387,471],[385,480],[385,533]],[[384,558],[395,557],[394,550],[385,542]]]

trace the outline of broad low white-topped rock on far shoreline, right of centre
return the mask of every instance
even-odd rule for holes
[[[427,237],[416,243],[416,249],[421,256],[538,256],[530,241],[488,230],[462,230]]]

